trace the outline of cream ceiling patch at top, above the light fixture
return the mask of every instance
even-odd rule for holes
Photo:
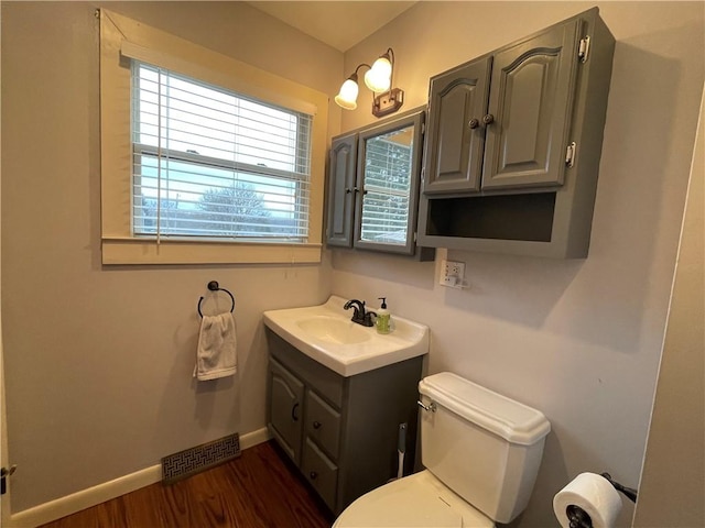
[[[247,2],[340,52],[364,41],[415,1]]]

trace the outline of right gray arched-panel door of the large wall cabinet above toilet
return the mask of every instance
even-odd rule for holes
[[[482,189],[563,184],[579,20],[495,55]]]

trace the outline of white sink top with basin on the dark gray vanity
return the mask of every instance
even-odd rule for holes
[[[429,327],[392,315],[394,329],[377,333],[350,321],[348,299],[335,295],[319,306],[268,310],[264,324],[312,360],[341,376],[391,365],[429,352]],[[375,307],[369,307],[375,311]]]

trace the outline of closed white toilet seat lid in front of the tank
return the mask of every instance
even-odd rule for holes
[[[390,482],[362,495],[333,528],[492,528],[495,524],[430,471]]]

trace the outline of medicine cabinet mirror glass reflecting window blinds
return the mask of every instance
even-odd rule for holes
[[[412,150],[384,136],[366,142],[362,240],[406,243]]]

